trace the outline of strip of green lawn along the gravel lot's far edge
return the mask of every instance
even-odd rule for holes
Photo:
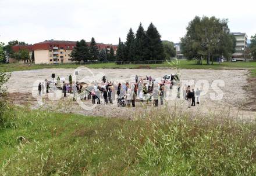
[[[5,72],[22,71],[29,69],[42,69],[42,68],[77,68],[79,64],[58,64],[58,65],[46,65],[46,64],[0,64],[0,70]],[[123,64],[118,65],[115,63],[99,63],[99,64],[87,64],[84,65],[88,68],[180,68],[180,69],[256,69],[256,62],[225,62],[214,63],[214,65],[207,65],[205,61],[203,65],[195,64],[195,61],[179,60],[172,62],[165,62],[162,64]],[[255,71],[253,71],[255,73]],[[255,75],[255,74],[253,74]]]

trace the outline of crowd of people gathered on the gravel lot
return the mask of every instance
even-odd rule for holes
[[[173,89],[173,79],[161,80],[161,82],[155,81],[151,76],[145,76],[145,78],[135,76],[135,80],[130,82],[120,83],[112,82],[107,80],[106,76],[103,76],[102,80],[94,81],[92,83],[65,83],[59,82],[54,83],[45,79],[44,83],[39,83],[38,94],[44,94],[46,88],[46,93],[49,93],[50,85],[54,85],[54,89],[62,90],[63,97],[66,94],[73,94],[73,101],[77,98],[81,100],[91,100],[92,104],[113,104],[113,101],[117,103],[118,106],[122,107],[135,107],[136,101],[140,105],[152,104],[157,107],[159,104],[164,104],[164,100],[168,97],[167,91]],[[196,91],[191,89],[190,86],[183,86],[183,97],[180,97],[180,83],[177,83],[177,98],[184,98],[188,102],[188,107],[195,106],[195,98],[197,104],[200,102],[201,91],[197,88]]]

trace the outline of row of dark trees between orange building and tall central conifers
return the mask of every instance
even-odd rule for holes
[[[91,38],[89,45],[84,39],[76,42],[76,46],[72,50],[70,57],[73,61],[115,61],[115,52],[113,47],[99,51],[97,43],[94,38]]]

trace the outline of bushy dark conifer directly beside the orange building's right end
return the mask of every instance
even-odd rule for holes
[[[87,61],[90,59],[89,48],[84,39],[76,42],[76,46],[72,50],[70,56],[73,61],[78,61],[79,63],[81,60]]]

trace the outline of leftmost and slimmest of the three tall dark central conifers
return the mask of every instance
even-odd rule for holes
[[[134,60],[134,40],[135,40],[135,35],[133,30],[130,28],[127,36],[126,36],[126,51],[125,51],[125,56],[127,60]]]

